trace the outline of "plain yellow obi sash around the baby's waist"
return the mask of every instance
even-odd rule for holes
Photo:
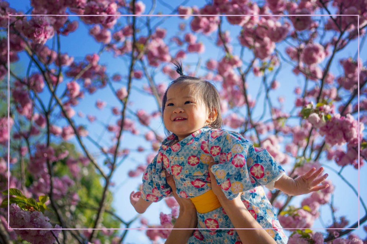
[[[200,196],[191,197],[190,200],[195,205],[196,211],[200,214],[213,211],[222,206],[212,189]]]

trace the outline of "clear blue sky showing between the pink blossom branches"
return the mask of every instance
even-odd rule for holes
[[[148,1],[144,1],[148,2]],[[179,5],[181,2],[179,1],[172,1],[171,5],[176,6]],[[186,6],[192,6],[197,4],[197,1],[188,1]],[[203,4],[202,4],[203,5]],[[23,10],[24,12],[28,10],[28,7],[30,6],[29,1],[17,1],[10,3],[10,7],[13,7],[17,10]],[[201,5],[199,5],[201,7]],[[147,3],[146,10],[150,9],[150,5]],[[163,14],[170,14],[171,11],[169,8],[162,5],[160,2],[157,4],[157,9],[155,12],[161,11]],[[147,12],[147,11],[146,11]],[[152,23],[156,23],[160,20],[161,17],[153,17]],[[319,17],[318,17],[319,18]],[[78,17],[70,17],[71,20],[78,20]],[[141,17],[142,21],[138,21],[138,25],[143,25],[144,17]],[[181,18],[178,17],[170,17],[163,23],[161,27],[167,29],[167,36],[172,36],[174,34],[178,34],[180,37],[183,36],[183,33],[189,32],[189,23],[191,18],[188,21],[183,21]],[[120,19],[121,22],[126,23],[124,19]],[[178,29],[178,25],[180,22],[186,23],[186,30],[184,32],[180,32]],[[142,26],[143,27],[143,26]],[[67,37],[61,38],[61,52],[62,53],[68,53],[69,56],[75,56],[75,60],[80,61],[83,60],[83,57],[87,54],[97,53],[99,48],[101,47],[101,44],[95,42],[91,36],[88,35],[88,30],[90,27],[86,24],[84,24],[82,21],[79,21],[79,28],[76,32],[70,33]],[[235,53],[239,53],[240,47],[237,45],[237,33],[239,28],[230,26],[230,25],[224,25],[224,30],[229,30],[231,33],[232,41],[235,43]],[[210,36],[204,36],[202,34],[198,34],[198,41],[202,41],[206,44],[206,50],[201,55],[197,54],[190,54],[187,55],[187,57],[183,60],[184,66],[190,66],[190,70],[194,70],[197,60],[201,58],[202,65],[201,67],[205,66],[206,60],[213,58],[216,60],[219,60],[222,58],[224,53],[222,51],[219,51],[217,47],[213,45],[215,44],[215,41],[217,40],[217,32],[212,33]],[[165,39],[167,41],[167,44],[172,46],[172,44],[169,42],[168,38]],[[214,41],[212,41],[214,40]],[[210,43],[211,42],[211,43]],[[47,42],[48,45],[51,45],[51,41]],[[173,45],[174,46],[174,45]],[[279,49],[280,52],[283,52],[283,56],[287,56],[284,53],[284,49],[287,46],[284,44],[278,44],[277,49]],[[185,50],[186,47],[184,46],[183,49]],[[170,49],[170,53],[172,56],[174,56],[179,49],[172,48]],[[348,48],[346,48],[344,51],[337,54],[334,63],[332,64],[331,71],[335,74],[335,76],[339,76],[343,73],[342,67],[339,65],[337,60],[340,58],[346,58],[349,56],[354,57],[357,51],[357,43],[356,41],[353,41],[353,43],[349,44]],[[361,58],[363,60],[366,60],[366,54],[363,52],[363,49],[360,51]],[[238,54],[239,55],[239,54]],[[246,51],[244,55],[244,61],[249,62],[252,58],[252,54],[250,51]],[[25,53],[21,53],[19,55],[19,58],[21,62],[17,63],[17,70],[19,70],[20,73],[25,73],[26,67],[28,65],[28,59],[26,58]],[[27,60],[27,61],[24,61]],[[113,57],[113,54],[110,52],[104,52],[101,55],[99,64],[106,64],[107,66],[107,73],[109,74],[109,77],[111,77],[113,74],[119,73],[121,75],[127,74],[127,67],[128,67],[128,59],[123,59],[121,57]],[[321,64],[323,67],[326,65],[326,61],[324,61]],[[158,69],[156,69],[156,76],[155,81],[157,83],[160,82],[166,82],[168,83],[169,80],[166,75],[161,73],[161,68],[163,66],[160,66]],[[19,69],[18,69],[19,68]],[[137,65],[136,69],[139,69],[139,64]],[[285,103],[283,105],[283,110],[286,112],[291,111],[292,107],[294,106],[294,88],[296,86],[300,86],[303,88],[304,86],[304,78],[300,76],[295,76],[291,72],[292,67],[289,64],[286,64],[283,62],[283,66],[281,69],[281,72],[277,76],[277,80],[280,82],[280,88],[278,88],[275,92],[272,92],[272,103],[273,106],[279,107],[280,104],[277,101],[278,96],[284,96],[285,97]],[[205,74],[205,69],[200,69],[199,75]],[[70,81],[67,77],[64,77],[64,82],[61,84],[59,95],[63,92],[63,89],[65,87],[66,82]],[[123,79],[121,83],[114,83],[115,88],[120,88],[121,86],[126,85],[126,78]],[[259,86],[261,84],[261,79],[258,77],[254,77],[252,74],[248,76],[248,93],[251,94],[252,98],[254,99],[256,97],[256,94],[258,93]],[[312,83],[312,82],[311,82]],[[134,88],[131,91],[130,95],[130,101],[132,101],[132,104],[130,106],[130,109],[132,111],[137,111],[138,109],[144,109],[148,112],[152,112],[157,110],[157,106],[155,101],[152,99],[152,96],[144,95],[141,92],[139,92],[138,89],[141,89],[143,85],[147,85],[148,82],[146,79],[142,80],[134,80],[133,86]],[[217,87],[220,89],[221,84],[215,83]],[[137,89],[135,89],[137,88]],[[75,115],[74,119],[77,125],[86,125],[89,131],[89,134],[92,138],[97,140],[97,138],[101,138],[101,144],[110,146],[113,144],[111,141],[111,138],[113,137],[112,133],[105,132],[105,125],[112,124],[119,119],[118,117],[111,115],[110,108],[117,106],[121,108],[121,104],[117,101],[115,96],[111,96],[112,93],[108,87],[105,89],[102,89],[98,92],[96,92],[93,95],[85,94],[85,98],[80,101],[80,103],[74,108],[76,112],[81,111],[85,115],[86,114],[92,114],[97,116],[97,122],[90,124],[86,118],[79,118],[77,115]],[[41,96],[43,99],[48,101],[48,94],[47,92],[41,93]],[[260,96],[259,100],[257,101],[257,110],[254,111],[253,117],[256,120],[261,113],[262,113],[262,107],[263,107],[263,99],[264,94]],[[98,110],[95,108],[95,101],[97,99],[103,100],[107,102],[107,106],[104,110]],[[246,114],[245,110],[242,109],[241,112],[243,114]],[[296,115],[296,114],[294,114]],[[134,119],[134,116],[131,113],[127,112],[127,117]],[[269,118],[269,117],[268,117]],[[290,120],[289,124],[295,125],[299,124],[299,120]],[[65,119],[61,118],[58,120],[57,125],[64,126],[66,125]],[[158,131],[160,134],[163,133],[163,125],[161,125],[160,119],[154,119],[150,125],[152,129]],[[136,178],[127,178],[127,172],[131,169],[135,169],[135,167],[138,164],[145,164],[146,162],[146,155],[148,153],[153,152],[150,150],[151,146],[149,143],[146,143],[145,139],[143,138],[143,134],[147,132],[148,130],[137,124],[138,129],[141,132],[141,136],[132,136],[129,132],[124,132],[123,138],[121,140],[121,148],[129,148],[131,149],[131,154],[128,157],[128,159],[119,167],[116,169],[114,173],[114,177],[112,179],[113,182],[115,182],[115,187],[112,187],[110,190],[114,193],[114,202],[113,206],[116,208],[116,213],[122,217],[125,221],[130,220],[133,218],[136,213],[134,211],[134,208],[130,205],[130,202],[128,200],[128,196],[130,195],[130,192],[132,190],[137,189],[137,186],[141,182],[141,177]],[[229,129],[229,128],[227,128]],[[71,142],[75,142],[75,139],[70,140]],[[88,143],[87,140],[84,140],[87,147],[90,149],[91,152],[98,152],[97,148],[94,147],[91,143]],[[77,144],[77,143],[76,143]],[[143,147],[149,149],[146,152],[138,153],[137,151],[134,151],[139,145],[142,145]],[[102,164],[102,157],[97,158],[98,162]],[[333,167],[334,169],[338,170],[338,167],[336,166],[335,162],[328,162],[325,158],[320,159],[320,163],[324,162],[330,167]],[[288,167],[284,166],[284,168],[287,170]],[[105,169],[107,171],[107,169]],[[326,170],[327,173],[329,173],[329,178],[333,180],[334,182],[337,182],[337,186],[335,188],[335,195],[334,195],[334,203],[335,206],[339,208],[339,211],[336,213],[337,216],[346,215],[350,221],[350,223],[354,223],[357,221],[357,197],[353,192],[350,191],[349,187],[342,183],[340,178],[336,174],[333,173],[333,171]],[[363,176],[367,173],[366,166],[361,168],[360,175]],[[355,170],[352,166],[345,167],[343,171],[343,176],[354,186],[357,187],[357,170]],[[364,196],[366,199],[366,190],[361,192],[361,197]],[[292,200],[291,204],[294,204],[295,206],[299,206],[299,202],[304,197],[297,197],[294,200]],[[345,199],[348,199],[348,201],[345,201]],[[159,223],[159,212],[163,211],[165,213],[170,212],[166,204],[162,201],[158,204],[152,204],[151,207],[146,211],[144,214],[145,218],[149,219],[149,222],[152,224],[158,224]],[[320,214],[325,222],[326,225],[330,225],[331,220],[331,214],[330,214],[330,207],[323,206],[320,209]],[[360,216],[364,215],[364,210],[361,208],[360,210]],[[135,225],[131,226],[132,228],[138,227],[138,221],[135,223]],[[316,221],[314,228],[323,228],[320,221]],[[355,233],[359,234],[361,237],[365,237],[366,234],[363,230],[357,230]],[[139,232],[137,230],[130,230],[127,234],[127,237],[125,238],[126,243],[148,243],[147,238],[145,237],[145,234],[143,232]]]

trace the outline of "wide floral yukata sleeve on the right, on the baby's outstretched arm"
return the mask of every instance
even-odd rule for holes
[[[264,148],[255,148],[240,134],[226,130],[214,130],[208,141],[208,149],[218,163],[212,173],[228,199],[259,185],[274,186],[284,169],[274,161]]]

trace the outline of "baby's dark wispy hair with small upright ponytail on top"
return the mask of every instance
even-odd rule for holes
[[[217,110],[217,118],[210,123],[210,127],[213,129],[219,129],[223,125],[222,115],[221,115],[221,101],[219,98],[219,93],[217,88],[209,81],[202,80],[200,78],[187,76],[183,74],[182,63],[180,62],[172,62],[175,67],[177,73],[180,75],[176,80],[172,81],[164,93],[163,100],[162,100],[162,119],[163,119],[163,112],[164,108],[166,107],[167,102],[167,91],[170,89],[172,85],[185,85],[185,86],[194,86],[195,94],[192,94],[194,97],[200,97],[203,101],[205,107],[209,111]],[[164,131],[168,135],[169,131],[164,128]]]

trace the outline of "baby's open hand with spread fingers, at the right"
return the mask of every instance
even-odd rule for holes
[[[321,167],[320,169],[316,171],[315,170],[316,168],[312,168],[306,174],[294,179],[295,186],[293,195],[298,196],[310,192],[320,191],[329,187],[328,184],[319,185],[328,177],[328,174],[324,174],[323,176],[317,178],[324,168]]]

